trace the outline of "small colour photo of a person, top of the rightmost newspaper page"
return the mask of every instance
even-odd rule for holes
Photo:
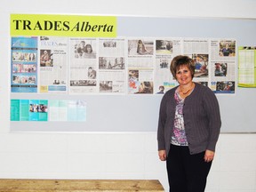
[[[220,57],[235,57],[236,41],[220,41]]]

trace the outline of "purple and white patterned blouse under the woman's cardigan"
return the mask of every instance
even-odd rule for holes
[[[188,140],[186,137],[183,119],[183,105],[185,99],[180,97],[178,89],[176,89],[174,99],[176,100],[177,105],[174,117],[171,143],[177,146],[188,146]]]

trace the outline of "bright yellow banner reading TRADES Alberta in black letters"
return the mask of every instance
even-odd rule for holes
[[[116,17],[11,14],[11,36],[116,37]]]

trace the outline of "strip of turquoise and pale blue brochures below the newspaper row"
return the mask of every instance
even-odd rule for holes
[[[86,121],[84,100],[11,100],[11,121]]]

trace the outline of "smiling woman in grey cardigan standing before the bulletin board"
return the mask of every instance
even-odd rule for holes
[[[166,160],[171,192],[204,192],[220,134],[220,108],[212,90],[194,83],[194,60],[176,56],[179,86],[164,94],[157,130],[158,156]]]

